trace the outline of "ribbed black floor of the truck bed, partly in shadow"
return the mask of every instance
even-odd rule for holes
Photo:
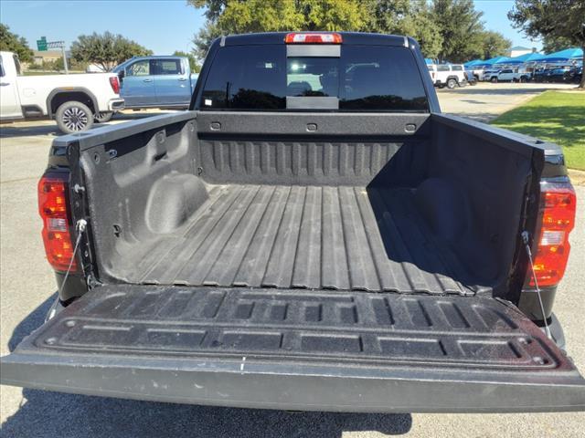
[[[180,234],[149,248],[133,283],[473,294],[410,189],[214,186]],[[408,236],[403,238],[402,236]]]

